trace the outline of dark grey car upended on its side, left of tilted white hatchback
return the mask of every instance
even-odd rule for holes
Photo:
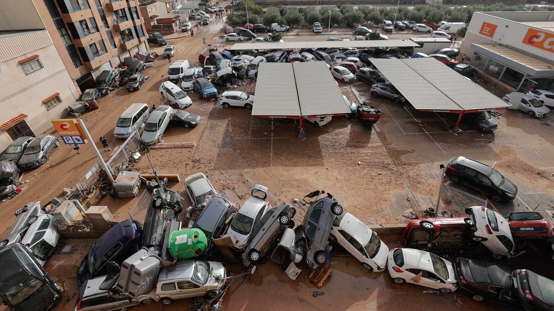
[[[319,265],[327,261],[325,246],[329,239],[329,233],[335,216],[341,215],[342,206],[330,193],[323,198],[324,190],[316,190],[304,196],[304,201],[310,204],[306,211],[304,221],[294,230],[296,242],[304,252],[304,263],[310,271],[317,269]],[[306,198],[315,198],[314,201],[306,201]]]

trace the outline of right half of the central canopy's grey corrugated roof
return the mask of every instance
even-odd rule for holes
[[[351,112],[325,61],[293,63],[293,69],[302,116]]]

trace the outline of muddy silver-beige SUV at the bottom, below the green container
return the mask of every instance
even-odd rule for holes
[[[160,269],[153,296],[162,304],[204,295],[213,298],[225,284],[225,277],[227,270],[219,262],[180,261],[175,266]]]

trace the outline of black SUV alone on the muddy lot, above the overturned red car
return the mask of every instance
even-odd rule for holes
[[[448,162],[445,174],[452,182],[468,185],[495,201],[512,201],[517,194],[517,185],[514,182],[489,165],[474,159],[453,158]]]

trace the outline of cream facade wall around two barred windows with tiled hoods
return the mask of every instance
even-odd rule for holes
[[[26,75],[18,61],[34,54],[39,55],[43,68]],[[0,123],[25,113],[27,124],[36,135],[52,126],[50,120],[57,118],[79,96],[53,44],[3,61],[0,70]],[[56,92],[62,102],[47,110],[42,100]],[[0,130],[0,151],[10,143],[8,133]]]

